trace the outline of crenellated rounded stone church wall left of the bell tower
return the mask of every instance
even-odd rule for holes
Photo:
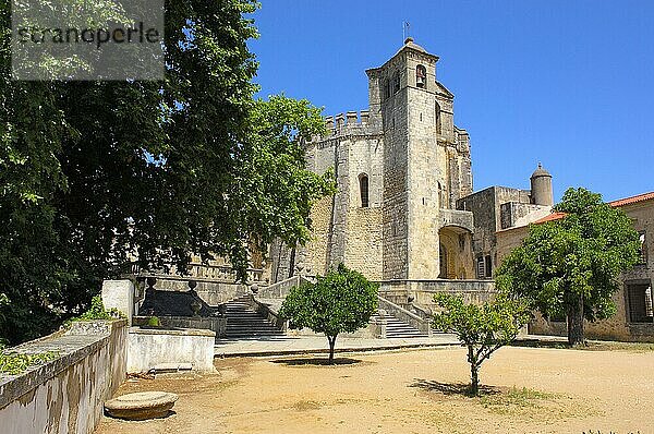
[[[332,170],[337,193],[317,201],[311,210],[311,240],[298,246],[294,264],[305,273],[324,275],[329,266],[344,263],[371,278],[382,273],[382,156],[379,125],[370,122],[368,111],[349,111],[326,118],[328,134],[306,143],[307,168],[316,173]],[[368,206],[360,194],[362,177],[368,180]],[[289,270],[276,270],[289,261],[275,248],[274,282],[289,277]],[[363,260],[365,258],[365,261]],[[294,272],[294,270],[293,270]]]

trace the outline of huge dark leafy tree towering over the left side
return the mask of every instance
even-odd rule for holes
[[[10,80],[0,1],[0,336],[38,336],[84,311],[128,254],[142,267],[307,238],[329,176],[305,168],[324,130],[307,101],[255,100],[251,0],[166,2],[159,82]]]

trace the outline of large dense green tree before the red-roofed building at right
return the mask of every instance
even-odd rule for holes
[[[615,314],[617,277],[639,258],[638,232],[619,208],[584,189],[568,189],[559,220],[532,225],[499,267],[499,288],[529,300],[544,316],[567,315],[568,342],[584,341],[584,318]]]

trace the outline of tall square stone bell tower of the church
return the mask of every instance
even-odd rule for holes
[[[366,71],[371,119],[384,134],[384,279],[439,277],[441,210],[456,213],[472,192],[468,134],[453,125],[453,95],[436,81],[437,62],[407,38]]]

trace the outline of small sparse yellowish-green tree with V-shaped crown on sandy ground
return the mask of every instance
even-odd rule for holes
[[[531,314],[525,305],[498,294],[481,305],[465,304],[461,296],[438,293],[434,301],[444,310],[434,315],[434,327],[457,335],[468,347],[472,396],[479,395],[479,371],[493,352],[510,343]]]

